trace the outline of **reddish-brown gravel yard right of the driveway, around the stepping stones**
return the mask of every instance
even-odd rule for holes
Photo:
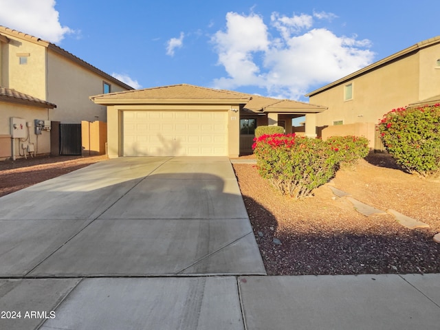
[[[252,156],[251,156],[252,157]],[[252,164],[234,164],[267,273],[408,274],[440,272],[440,183],[399,170],[389,155],[369,155],[339,170],[333,183],[358,201],[430,225],[410,230],[391,214],[366,217],[328,186],[303,201],[278,195]]]

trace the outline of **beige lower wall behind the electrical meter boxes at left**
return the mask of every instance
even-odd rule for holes
[[[38,154],[50,153],[50,131],[42,131],[40,135],[34,133],[34,119],[47,119],[47,109],[28,107],[21,104],[0,102],[1,120],[0,120],[0,158],[12,157],[11,138],[10,138],[10,118],[22,118],[26,122],[30,122],[32,126],[26,131],[29,135],[24,139],[15,139],[15,154],[18,157],[20,153],[23,155],[21,143],[34,144],[34,149]],[[38,136],[38,137],[37,137]],[[28,154],[29,155],[29,154]]]

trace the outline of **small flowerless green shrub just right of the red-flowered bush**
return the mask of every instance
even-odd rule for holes
[[[359,159],[365,158],[370,151],[369,140],[366,137],[331,136],[326,142],[336,152],[336,157],[342,165],[353,166]]]

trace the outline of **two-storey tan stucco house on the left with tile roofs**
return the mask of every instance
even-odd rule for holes
[[[49,122],[105,122],[105,107],[89,96],[130,89],[53,43],[0,26],[0,159],[23,155],[23,144],[50,153]],[[34,120],[47,121],[38,136]]]

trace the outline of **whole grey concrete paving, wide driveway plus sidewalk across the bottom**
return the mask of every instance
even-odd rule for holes
[[[440,325],[440,274],[265,276],[226,157],[111,159],[0,210],[0,329]]]

